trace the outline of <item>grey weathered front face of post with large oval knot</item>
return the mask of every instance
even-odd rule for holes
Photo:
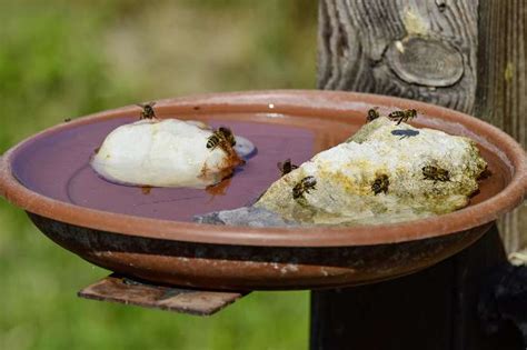
[[[473,111],[477,1],[325,0],[319,21],[320,89]],[[418,81],[409,79],[411,72]]]

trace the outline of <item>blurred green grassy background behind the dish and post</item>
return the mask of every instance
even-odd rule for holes
[[[0,154],[105,109],[316,86],[317,1],[0,0]],[[256,292],[210,318],[78,299],[108,271],[0,200],[0,349],[307,349],[307,292]]]

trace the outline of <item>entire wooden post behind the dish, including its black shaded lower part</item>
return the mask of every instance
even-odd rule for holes
[[[318,87],[399,96],[497,124],[526,146],[524,0],[320,0]],[[527,211],[500,222],[527,244]],[[479,283],[506,261],[496,227],[438,266],[398,280],[311,294],[311,349],[516,349],[483,332]]]

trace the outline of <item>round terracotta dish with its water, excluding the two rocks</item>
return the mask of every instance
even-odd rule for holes
[[[277,162],[301,163],[358,130],[368,109],[417,109],[417,127],[473,138],[490,177],[469,207],[390,226],[249,228],[191,222],[192,216],[253,201],[279,177]],[[384,96],[261,91],[161,100],[160,118],[228,126],[257,152],[230,181],[205,190],[139,189],[107,182],[89,167],[106,134],[139,118],[138,107],[48,129],[0,159],[0,194],[50,239],[103,268],[136,278],[210,289],[314,289],[408,274],[475,242],[521,203],[525,151],[476,118]]]

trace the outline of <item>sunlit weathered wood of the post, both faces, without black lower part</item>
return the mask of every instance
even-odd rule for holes
[[[524,0],[321,0],[318,87],[441,104],[525,147],[525,22]],[[508,252],[527,248],[526,206],[500,229]]]

